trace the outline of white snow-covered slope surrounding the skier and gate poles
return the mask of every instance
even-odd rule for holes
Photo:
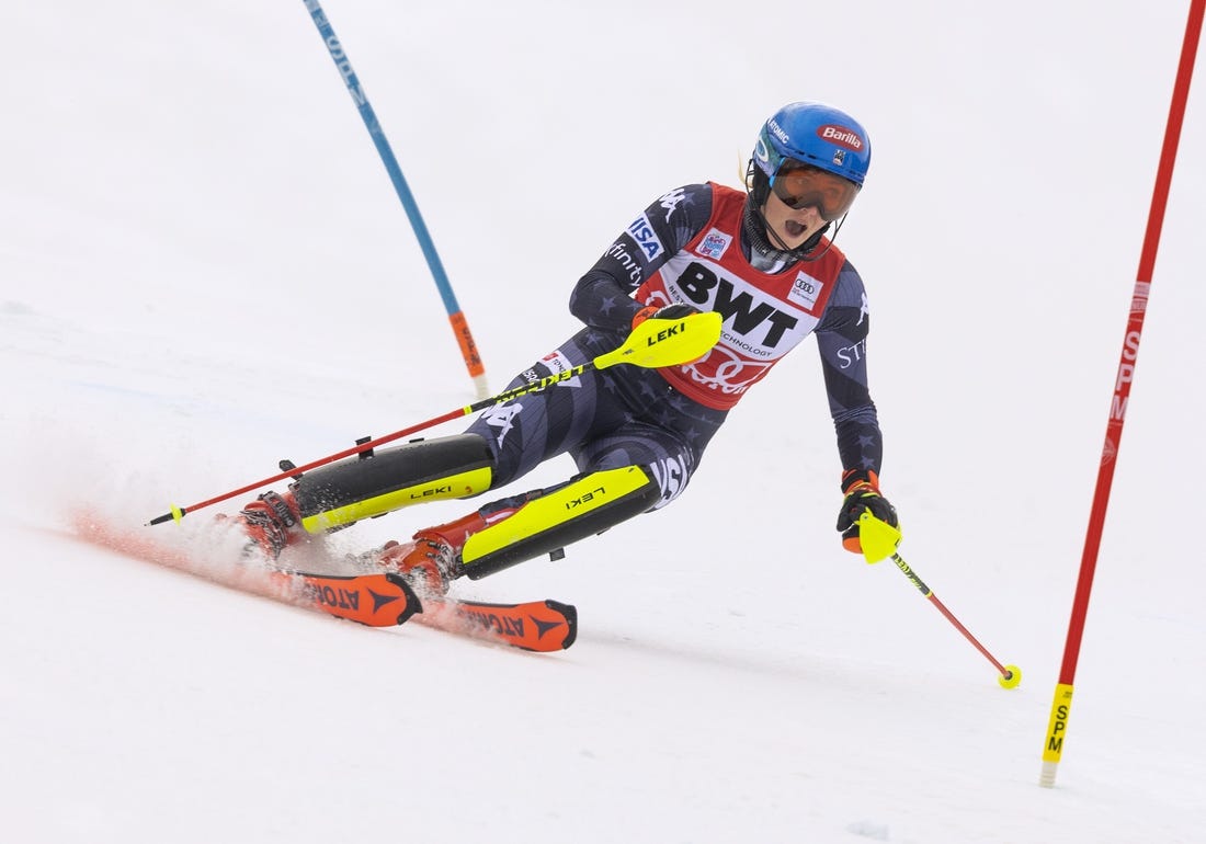
[[[574,603],[564,652],[369,629],[74,539],[81,504],[140,526],[474,394],[302,2],[8,4],[2,838],[1206,842],[1201,80],[1037,785],[1187,7],[326,6],[496,392],[575,330],[616,233],[672,187],[738,183],[778,106],[866,124],[838,244],[872,304],[884,492],[903,557],[1021,667],[1003,690],[891,563],[841,549],[812,341],[673,506],[457,584]]]

